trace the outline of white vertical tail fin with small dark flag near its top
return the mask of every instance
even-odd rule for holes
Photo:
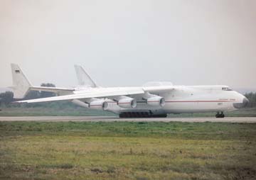
[[[11,64],[11,74],[13,78],[14,99],[23,99],[28,93],[31,83],[21,71],[17,64]]]

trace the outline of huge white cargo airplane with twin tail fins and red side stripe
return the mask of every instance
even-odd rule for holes
[[[247,106],[245,96],[228,86],[174,86],[170,82],[149,82],[139,87],[100,87],[82,67],[75,65],[78,87],[32,86],[17,64],[11,64],[14,98],[23,99],[28,91],[50,91],[58,96],[16,101],[39,103],[72,101],[92,109],[110,111],[120,118],[166,117],[168,113],[216,112],[224,118],[226,111]]]

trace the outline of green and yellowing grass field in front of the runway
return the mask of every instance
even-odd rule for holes
[[[0,122],[0,179],[256,179],[256,124]]]

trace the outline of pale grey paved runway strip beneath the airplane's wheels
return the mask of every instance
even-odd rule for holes
[[[117,118],[107,116],[28,116],[28,117],[0,117],[0,121],[41,121],[41,122],[68,122],[68,121],[159,121],[159,122],[225,122],[225,123],[256,123],[253,118]]]

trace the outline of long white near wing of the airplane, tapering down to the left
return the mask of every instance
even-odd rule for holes
[[[54,96],[43,99],[31,99],[24,101],[16,101],[16,103],[39,103],[39,102],[49,102],[49,101],[64,101],[73,99],[90,99],[90,98],[111,98],[113,96],[129,96],[134,94],[144,94],[144,90],[140,89],[117,89],[110,91],[91,91],[81,94],[71,94],[65,96]]]

